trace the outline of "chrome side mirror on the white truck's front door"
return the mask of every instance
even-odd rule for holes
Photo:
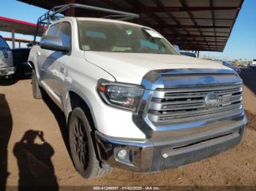
[[[65,47],[61,41],[61,38],[56,35],[42,36],[39,43],[42,49],[54,50],[59,52],[69,52],[70,47]]]

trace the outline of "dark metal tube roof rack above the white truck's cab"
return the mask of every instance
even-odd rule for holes
[[[86,5],[86,4],[63,4],[63,5],[53,7],[48,12],[46,12],[44,15],[42,15],[41,17],[38,18],[37,28],[36,28],[36,31],[34,34],[34,42],[36,42],[39,26],[46,26],[46,28],[48,28],[48,26],[50,25],[51,22],[53,22],[55,20],[59,20],[61,18],[61,16],[58,15],[59,13],[64,12],[65,10],[71,9],[71,8],[80,8],[80,9],[99,11],[99,12],[107,12],[107,13],[110,13],[113,15],[108,15],[103,18],[113,17],[113,18],[117,18],[117,20],[131,20],[131,19],[136,19],[136,18],[140,17],[140,15],[131,13],[131,12],[122,12],[122,11],[118,11],[118,10],[114,10],[114,9],[93,7],[93,6]]]

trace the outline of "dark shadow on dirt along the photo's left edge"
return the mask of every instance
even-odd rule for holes
[[[0,190],[5,190],[7,177],[8,152],[7,146],[12,133],[12,114],[5,99],[0,93]]]

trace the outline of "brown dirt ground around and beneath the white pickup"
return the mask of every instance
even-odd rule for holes
[[[9,85],[2,83],[0,85],[0,155],[7,152],[7,158],[4,159],[3,155],[0,158],[2,161],[7,160],[7,164],[0,164],[1,179],[4,177],[3,169],[7,167],[9,186],[18,185],[19,177],[22,177],[20,182],[31,181],[31,176],[26,177],[28,171],[32,175],[37,174],[38,171],[47,171],[49,174],[48,178],[45,178],[46,182],[53,179],[53,184],[59,186],[256,186],[256,84],[253,86],[252,83],[255,76],[256,70],[243,70],[244,106],[249,119],[249,128],[246,130],[246,138],[242,144],[220,155],[157,174],[138,174],[114,168],[107,176],[94,180],[83,179],[75,171],[65,145],[67,136],[64,116],[56,105],[49,99],[42,101],[32,98],[30,79],[12,82]],[[28,130],[42,131],[45,141],[49,144],[48,147],[42,147],[39,136],[28,138],[26,133]],[[27,139],[26,141],[36,139],[37,144],[34,144],[36,157],[19,155],[17,150],[23,148],[21,142],[24,139]],[[4,149],[6,146],[7,151],[6,148]],[[31,162],[37,160],[37,157],[43,158],[44,155],[50,157],[45,164],[40,161]]]

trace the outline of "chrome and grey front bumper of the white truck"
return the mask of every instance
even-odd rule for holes
[[[220,128],[157,141],[116,139],[98,131],[95,136],[99,159],[103,163],[132,171],[154,172],[193,163],[235,147],[244,137],[246,125],[243,115],[222,122]],[[127,158],[118,158],[120,149],[127,150]]]

